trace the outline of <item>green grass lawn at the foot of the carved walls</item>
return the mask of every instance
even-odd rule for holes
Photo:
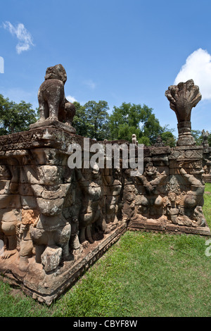
[[[203,210],[211,227],[211,194]],[[211,316],[207,239],[128,231],[50,307],[0,282],[0,316]]]

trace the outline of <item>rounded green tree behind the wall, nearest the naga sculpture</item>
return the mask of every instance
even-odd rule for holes
[[[122,103],[114,106],[109,118],[111,139],[126,139],[131,141],[135,134],[140,144],[150,145],[156,142],[158,135],[165,131],[159,120],[155,118],[153,109],[145,104]]]

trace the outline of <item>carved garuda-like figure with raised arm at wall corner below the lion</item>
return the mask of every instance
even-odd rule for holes
[[[46,271],[51,271],[62,258],[70,258],[71,225],[63,216],[63,204],[71,183],[63,183],[63,173],[57,165],[41,165],[36,168],[30,156],[26,163],[25,173],[39,210],[39,217],[30,226],[35,258]]]

